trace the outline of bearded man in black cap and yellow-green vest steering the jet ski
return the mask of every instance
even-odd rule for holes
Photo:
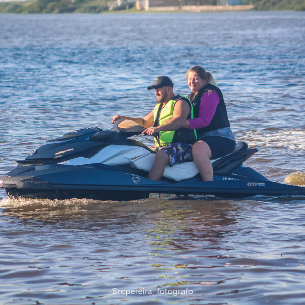
[[[114,123],[118,119],[129,119],[144,126],[146,133],[155,137],[158,148],[154,165],[151,168],[148,179],[159,181],[164,173],[166,165],[173,166],[192,160],[192,145],[196,140],[196,131],[182,128],[186,119],[193,118],[193,107],[188,98],[175,95],[174,84],[167,76],[159,76],[148,90],[155,89],[155,108],[143,118],[115,115]]]

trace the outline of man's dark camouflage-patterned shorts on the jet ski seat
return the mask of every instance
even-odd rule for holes
[[[163,150],[169,158],[169,166],[172,167],[175,164],[182,162],[192,161],[192,146],[187,143],[175,143],[161,147],[159,150]]]

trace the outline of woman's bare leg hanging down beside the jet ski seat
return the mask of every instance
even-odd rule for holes
[[[197,141],[193,145],[192,155],[203,181],[213,181],[214,170],[210,161],[212,152],[208,144],[204,141]]]

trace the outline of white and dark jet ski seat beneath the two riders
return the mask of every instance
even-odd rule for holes
[[[221,157],[219,159],[212,159],[211,163],[215,174],[228,173],[240,166],[243,161],[248,159],[257,151],[257,148],[248,149],[245,142],[237,142],[233,153]],[[130,165],[144,171],[150,171],[154,164],[155,154],[148,154],[137,159],[131,160]],[[246,158],[245,158],[246,157]],[[198,174],[198,169],[193,161],[180,163],[172,167],[166,166],[163,176],[175,181],[191,179]]]

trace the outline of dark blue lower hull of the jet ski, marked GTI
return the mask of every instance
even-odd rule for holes
[[[305,188],[272,182],[249,167],[216,175],[212,182],[200,177],[182,181],[151,181],[139,172],[107,165],[21,166],[0,178],[0,187],[11,197],[128,201],[184,197],[237,198],[255,195],[305,195]],[[251,176],[247,178],[246,176]],[[246,177],[246,178],[245,178]]]

